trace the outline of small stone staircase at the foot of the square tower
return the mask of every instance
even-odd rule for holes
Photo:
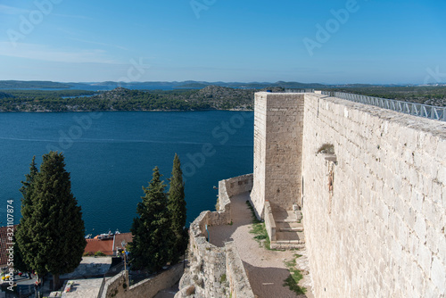
[[[304,247],[305,237],[303,224],[301,223],[301,211],[273,211],[273,216],[276,222],[276,241],[271,242],[271,248],[293,249]]]

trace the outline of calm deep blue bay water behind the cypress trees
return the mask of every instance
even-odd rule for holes
[[[253,112],[11,112],[0,114],[0,197],[21,205],[33,155],[63,152],[86,234],[128,231],[142,186],[158,166],[164,181],[178,153],[186,179],[187,221],[214,210],[220,179],[252,172]]]

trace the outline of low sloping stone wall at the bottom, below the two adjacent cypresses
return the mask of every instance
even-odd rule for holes
[[[152,298],[163,289],[174,286],[183,275],[183,263],[128,287],[128,271],[107,281],[103,290],[104,298]]]

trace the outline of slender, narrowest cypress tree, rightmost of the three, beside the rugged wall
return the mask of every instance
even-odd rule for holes
[[[170,262],[175,264],[186,252],[188,235],[186,227],[186,200],[185,183],[183,182],[183,172],[181,162],[177,153],[173,160],[172,176],[169,187],[168,209],[170,214],[170,231],[173,236],[173,244],[170,247]]]

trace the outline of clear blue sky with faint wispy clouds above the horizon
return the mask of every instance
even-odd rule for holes
[[[0,79],[446,81],[443,0],[0,0]]]

